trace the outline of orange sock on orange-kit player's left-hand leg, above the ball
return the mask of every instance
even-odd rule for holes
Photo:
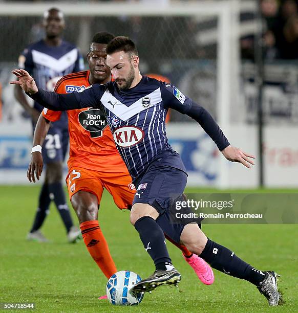
[[[80,229],[90,255],[100,267],[105,277],[110,278],[117,272],[117,269],[110,254],[108,243],[105,241],[99,227],[98,220],[82,222]]]

